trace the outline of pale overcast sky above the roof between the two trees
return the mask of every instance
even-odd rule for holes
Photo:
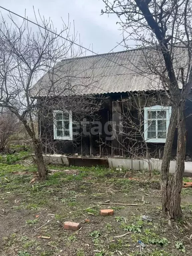
[[[6,0],[1,5],[10,11],[16,12],[29,19],[34,20],[33,6],[36,11],[40,11],[45,18],[51,17],[53,24],[58,29],[61,28],[61,17],[64,21],[75,22],[75,30],[80,33],[81,43],[89,48],[93,44],[93,51],[96,53],[107,53],[122,41],[119,25],[116,24],[118,18],[111,14],[100,15],[104,9],[102,0]],[[4,15],[7,12],[1,9]],[[17,18],[19,19],[19,18]],[[118,46],[114,51],[125,50]],[[92,55],[86,53],[86,55]]]

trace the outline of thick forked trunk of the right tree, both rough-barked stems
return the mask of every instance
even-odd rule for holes
[[[169,180],[170,155],[176,123],[178,128],[176,168],[174,176]],[[169,219],[177,219],[182,216],[180,204],[185,169],[185,151],[186,128],[183,103],[172,111],[161,166],[162,213],[165,217],[168,216]]]

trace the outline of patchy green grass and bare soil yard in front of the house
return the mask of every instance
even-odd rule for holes
[[[17,152],[20,160],[15,163],[7,163],[6,157],[0,163],[0,209],[4,209],[0,214],[5,215],[1,223],[4,238],[0,240],[0,255],[117,256],[122,253],[137,256],[140,255],[138,240],[146,244],[142,256],[191,254],[187,222],[192,221],[192,202],[188,200],[192,189],[182,190],[185,220],[173,222],[170,229],[167,220],[160,218],[158,175],[149,179],[146,173],[134,172],[124,179],[125,170],[120,172],[115,168],[49,166],[55,170],[76,170],[76,175],[55,172],[46,181],[31,184],[33,173],[16,174],[37,170],[35,165],[23,165],[29,157],[24,152]],[[129,179],[133,176],[136,180]],[[150,203],[143,204],[142,196]],[[137,202],[138,206],[95,204],[106,200]],[[114,216],[101,217],[100,209],[107,207],[114,209]],[[143,214],[149,215],[152,222],[141,221]],[[85,218],[90,222],[81,222]],[[64,230],[66,220],[81,222],[82,230]],[[129,235],[114,238],[129,231],[132,232]],[[185,253],[181,251],[184,247]]]

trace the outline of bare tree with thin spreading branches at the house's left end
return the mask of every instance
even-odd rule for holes
[[[90,100],[88,104],[85,103],[88,102],[87,99],[82,98],[80,101],[77,98],[82,92],[82,86],[80,83],[74,84],[73,63],[69,60],[71,65],[65,68],[62,62],[63,59],[82,54],[80,49],[73,47],[76,34],[70,36],[70,24],[63,23],[63,29],[57,33],[50,20],[41,16],[39,18],[45,29],[37,26],[37,30],[33,32],[26,20],[18,25],[9,16],[8,24],[11,25],[8,25],[2,17],[0,106],[11,111],[23,123],[32,140],[39,179],[45,180],[47,167],[42,154],[42,134],[36,129],[37,118],[40,123],[41,119],[49,119],[49,123],[53,123],[54,110],[69,111],[74,108],[79,109],[80,114],[86,107],[91,111],[90,104],[93,101]],[[36,22],[38,23],[37,18]],[[89,78],[91,76],[92,74]],[[78,78],[81,79],[81,74]],[[89,85],[90,83],[91,79]],[[84,85],[84,88],[86,86],[88,85]],[[83,105],[86,107],[81,109]],[[68,125],[67,122],[65,125]]]

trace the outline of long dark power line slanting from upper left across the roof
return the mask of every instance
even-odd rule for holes
[[[33,23],[34,25],[37,25],[37,26],[40,27],[40,28],[43,28],[43,29],[45,29],[45,30],[51,32],[51,33],[53,33],[54,35],[59,36],[59,37],[65,39],[65,40],[69,41],[69,42],[72,43],[72,44],[75,44],[75,45],[77,45],[77,46],[79,46],[79,47],[81,47],[81,48],[83,48],[83,49],[85,49],[85,50],[87,50],[87,51],[89,51],[89,52],[91,52],[91,53],[94,53],[95,55],[100,55],[100,54],[97,54],[96,52],[94,52],[94,51],[92,51],[92,50],[90,50],[90,49],[88,49],[88,48],[86,48],[86,47],[84,47],[84,46],[82,46],[82,45],[79,45],[79,44],[77,44],[77,43],[71,41],[70,39],[67,39],[67,38],[65,38],[65,37],[63,37],[63,36],[61,36],[61,35],[58,35],[58,34],[55,33],[54,31],[52,31],[52,30],[50,30],[50,29],[48,29],[48,28],[46,28],[46,27],[43,27],[43,26],[39,25],[38,23],[36,23],[36,22],[34,22],[34,21],[32,21],[32,20],[29,20],[29,19],[27,19],[27,18],[25,18],[25,17],[23,17],[23,16],[21,16],[21,15],[15,13],[15,12],[12,12],[12,11],[10,11],[10,10],[8,10],[8,9],[6,9],[6,8],[4,8],[4,7],[2,7],[2,6],[0,6],[0,8],[2,8],[2,9],[4,9],[4,10],[6,10],[6,11],[8,11],[8,12],[14,14],[14,15],[16,15],[16,16],[18,16],[18,17],[20,17],[20,18],[22,18],[22,19],[24,19],[24,20],[26,20],[26,21],[29,21],[29,22]],[[116,48],[116,46],[115,46],[114,48]],[[114,48],[113,48],[113,49],[114,49]],[[112,50],[113,50],[113,49],[112,49]],[[111,50],[111,51],[112,51],[112,50]],[[109,60],[109,61],[111,61],[111,62],[113,62],[113,63],[119,65],[119,66],[122,66],[122,67],[124,67],[124,68],[126,68],[126,69],[128,69],[128,70],[130,70],[130,71],[133,71],[134,73],[137,73],[137,74],[139,74],[139,75],[142,75],[142,76],[144,76],[144,77],[149,78],[149,77],[146,76],[146,75],[143,75],[143,74],[141,74],[141,73],[139,73],[139,72],[137,72],[137,71],[135,71],[135,70],[132,70],[132,69],[130,69],[130,68],[128,68],[128,67],[126,67],[126,66],[124,66],[124,65],[122,65],[122,64],[119,64],[119,63],[117,63],[117,62],[115,62],[115,61],[113,61],[113,60],[110,60],[110,59],[106,58],[105,55],[100,55],[100,56],[101,56],[102,58],[106,59],[106,60]],[[98,60],[98,61],[99,61],[99,60]],[[128,61],[129,61],[129,60],[128,60]],[[130,61],[129,61],[129,62],[130,62]],[[133,65],[134,67],[136,67],[133,63],[132,63],[132,65]],[[138,67],[136,67],[136,68],[138,68]],[[141,71],[142,71],[142,70],[141,70]],[[150,78],[150,80],[156,82],[155,80],[153,80],[153,79],[151,79],[151,78]],[[101,89],[101,88],[100,88],[100,89]]]

